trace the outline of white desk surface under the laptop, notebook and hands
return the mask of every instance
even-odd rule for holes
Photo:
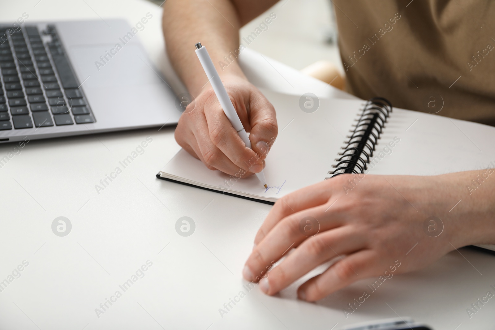
[[[26,12],[29,24],[99,19],[98,13],[133,23],[149,11],[153,19],[139,36],[155,63],[165,61],[161,9],[144,0],[42,0],[34,7],[38,1],[3,0],[0,19]],[[243,53],[241,61],[258,86],[343,96],[272,60],[263,64],[254,52]],[[95,185],[148,136],[145,152],[98,194]],[[13,147],[1,145],[0,157]],[[465,258],[452,252],[423,271],[387,280],[347,319],[343,309],[374,280],[316,304],[298,301],[296,285],[276,297],[255,287],[222,318],[218,309],[246,292],[241,270],[270,206],[155,179],[178,149],[170,128],[31,141],[0,168],[0,281],[29,262],[0,292],[0,329],[292,330],[331,329],[336,323],[338,329],[396,313],[436,330],[493,329],[492,299],[471,319],[466,309],[493,292],[495,259],[468,249],[461,250]],[[68,236],[51,231],[59,216],[72,223]],[[192,236],[176,233],[182,216],[194,219]],[[147,260],[152,266],[145,276],[124,292],[119,285]],[[95,309],[117,290],[122,296],[98,318]]]

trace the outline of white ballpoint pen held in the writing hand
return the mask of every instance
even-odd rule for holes
[[[227,94],[227,91],[225,90],[225,86],[223,86],[222,84],[222,80],[220,79],[220,76],[218,75],[218,72],[215,69],[215,65],[211,61],[210,55],[208,54],[206,47],[201,46],[201,43],[196,44],[196,55],[198,55],[199,62],[201,62],[201,65],[203,66],[204,72],[206,73],[206,76],[209,79],[209,82],[211,83],[211,87],[213,87],[213,91],[215,91],[218,101],[222,106],[223,112],[225,112],[225,115],[229,119],[230,123],[237,131],[237,133],[239,133],[241,139],[244,141],[244,143],[246,143],[246,146],[248,148],[251,148],[251,141],[249,141],[249,138],[247,137],[246,130],[244,129],[243,124],[241,123],[241,119],[239,119],[239,116],[237,115],[236,109],[234,108],[234,104],[232,104],[229,94]],[[263,170],[255,174],[258,177],[259,181],[261,181],[263,186],[265,188],[268,188],[268,186],[266,185],[266,179],[265,179],[265,175],[263,174]]]

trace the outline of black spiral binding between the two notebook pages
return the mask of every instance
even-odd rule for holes
[[[350,131],[352,135],[346,141],[347,146],[339,154],[341,157],[336,159],[337,164],[333,166],[336,169],[328,172],[332,174],[331,178],[366,171],[391,112],[392,104],[383,97],[373,97],[366,102],[354,130]]]

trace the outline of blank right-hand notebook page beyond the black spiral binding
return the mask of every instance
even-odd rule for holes
[[[491,126],[394,108],[369,173],[438,175],[494,167],[494,141]]]

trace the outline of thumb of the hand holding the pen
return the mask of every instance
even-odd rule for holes
[[[249,97],[249,109],[251,148],[265,159],[278,134],[275,108],[255,89]]]

